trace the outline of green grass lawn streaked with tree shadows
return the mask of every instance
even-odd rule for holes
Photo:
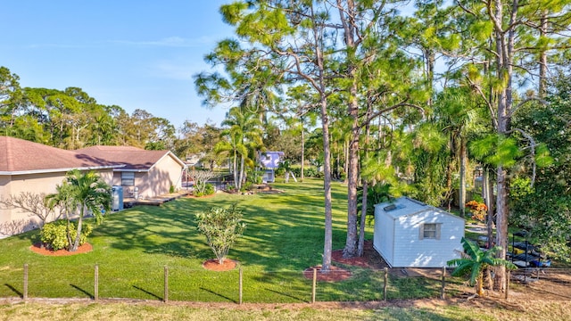
[[[94,251],[46,257],[29,250],[37,231],[0,241],[0,297],[22,295],[23,265],[29,264],[29,297],[90,298],[94,267],[99,268],[100,298],[163,299],[164,267],[169,268],[169,299],[238,301],[238,269],[202,268],[214,255],[194,224],[194,213],[237,202],[248,225],[229,259],[244,272],[244,302],[307,302],[311,282],[302,270],[321,263],[324,237],[322,181],[275,184],[285,193],[217,194],[179,199],[161,207],[139,206],[112,213],[88,239]],[[346,186],[334,184],[334,249],[344,246]],[[368,228],[371,238],[372,227]],[[319,283],[317,300],[380,300],[383,274],[355,270],[339,283]],[[437,297],[437,282],[396,280],[389,298]],[[397,287],[394,287],[397,286]],[[414,290],[414,291],[412,291]]]

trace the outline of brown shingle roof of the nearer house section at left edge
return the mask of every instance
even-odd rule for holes
[[[74,151],[0,136],[0,173],[60,171],[117,167],[112,161],[85,157]]]

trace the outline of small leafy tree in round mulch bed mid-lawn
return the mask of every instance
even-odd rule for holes
[[[211,208],[195,215],[197,228],[206,236],[206,242],[216,255],[219,264],[224,263],[228,251],[242,236],[246,227],[242,211],[232,204],[229,209]]]

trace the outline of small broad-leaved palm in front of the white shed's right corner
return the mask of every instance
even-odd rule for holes
[[[464,253],[462,258],[451,259],[448,262],[449,267],[456,267],[452,272],[452,276],[463,276],[470,272],[470,285],[476,284],[476,293],[478,296],[484,294],[484,271],[490,267],[504,266],[514,269],[516,266],[507,259],[498,259],[496,254],[501,251],[500,246],[494,246],[492,249],[484,251],[480,249],[476,243],[468,241],[462,237],[462,246]]]

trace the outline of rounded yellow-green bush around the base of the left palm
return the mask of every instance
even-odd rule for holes
[[[66,220],[57,220],[52,223],[47,223],[44,228],[40,231],[40,241],[46,244],[46,247],[53,251],[58,251],[62,249],[69,250],[70,244],[68,243],[68,237],[66,232]],[[71,238],[75,238],[78,231],[78,226],[75,222],[70,222],[70,235]],[[93,232],[93,227],[89,224],[83,224],[81,229],[81,235],[79,236],[79,245],[83,245],[87,242],[87,236]]]

